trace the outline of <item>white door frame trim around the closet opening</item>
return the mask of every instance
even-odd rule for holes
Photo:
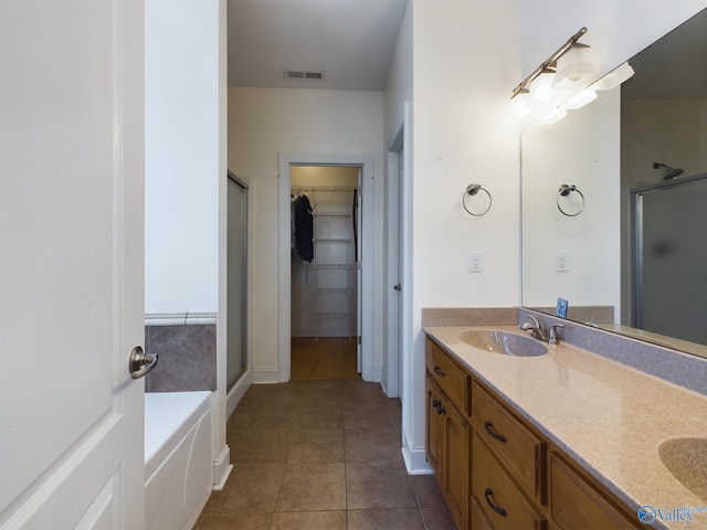
[[[361,378],[373,381],[373,156],[279,153],[277,156],[277,214],[278,214],[278,303],[277,303],[277,378],[281,383],[291,377],[291,219],[289,189],[293,166],[346,166],[361,168],[362,230],[361,230]]]

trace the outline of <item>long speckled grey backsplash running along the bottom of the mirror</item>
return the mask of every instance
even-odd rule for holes
[[[560,341],[707,395],[707,359],[524,308],[518,322],[525,321],[526,315],[538,318],[545,328],[563,325],[558,332]]]

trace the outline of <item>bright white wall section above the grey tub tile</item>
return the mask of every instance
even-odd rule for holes
[[[145,311],[217,312],[219,0],[145,15]]]

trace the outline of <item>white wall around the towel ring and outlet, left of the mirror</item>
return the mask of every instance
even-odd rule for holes
[[[519,290],[518,131],[507,103],[519,77],[519,4],[515,0],[440,4],[411,0],[388,83],[386,130],[412,95],[412,351],[404,363],[403,451],[424,470],[425,307],[515,306]],[[503,30],[500,30],[503,29]],[[412,38],[412,68],[404,65]],[[412,77],[412,86],[410,85]],[[466,186],[494,198],[487,215],[462,208]],[[468,253],[485,268],[468,273]]]

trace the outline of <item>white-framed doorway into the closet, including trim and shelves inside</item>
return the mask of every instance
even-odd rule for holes
[[[307,169],[309,168],[309,169]],[[326,180],[339,170],[351,180]],[[324,172],[303,182],[302,173]],[[293,377],[292,337],[344,337],[356,349],[357,373],[373,381],[372,156],[279,156],[278,378]],[[325,179],[325,180],[317,180]],[[367,186],[367,182],[370,184]],[[313,248],[293,267],[293,195],[312,194]],[[309,199],[309,197],[307,197]],[[319,219],[320,218],[320,219]],[[314,219],[317,219],[316,225]],[[369,221],[367,221],[369,220]],[[316,231],[316,232],[315,232]],[[317,242],[317,236],[320,240]],[[345,255],[347,259],[344,261]],[[321,265],[321,266],[319,266]],[[299,296],[304,292],[305,296]],[[328,324],[327,324],[328,321]]]

